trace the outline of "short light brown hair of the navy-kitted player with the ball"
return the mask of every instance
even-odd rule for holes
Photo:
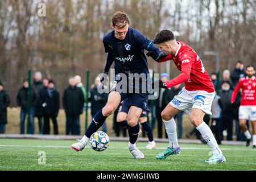
[[[126,24],[130,24],[129,16],[126,13],[117,11],[113,15],[112,24],[114,27],[117,26],[118,28],[123,28]]]

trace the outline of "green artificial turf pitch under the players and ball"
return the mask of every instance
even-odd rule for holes
[[[245,146],[220,146],[226,163],[207,164],[210,149],[206,144],[180,144],[181,154],[164,160],[155,156],[168,143],[156,143],[156,149],[137,147],[146,159],[135,160],[127,148],[127,142],[112,142],[102,152],[86,146],[81,152],[70,148],[75,140],[0,139],[0,170],[93,170],[93,171],[166,171],[166,170],[256,170],[256,150]],[[41,152],[40,152],[41,151]],[[43,152],[42,152],[43,151]],[[40,153],[46,154],[42,164]]]

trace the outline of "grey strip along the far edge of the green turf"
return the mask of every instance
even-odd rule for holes
[[[76,140],[77,138],[82,138],[79,135],[30,135],[30,134],[0,134],[0,138],[13,138],[13,139],[48,139],[48,140]],[[129,140],[128,137],[109,137],[112,141],[123,141],[127,142]],[[155,142],[166,142],[168,143],[168,139],[163,138],[155,138]],[[147,142],[147,138],[139,137],[138,141]],[[201,144],[202,142],[198,139],[178,139],[179,143],[191,143],[191,144]],[[229,145],[229,146],[244,146],[245,142],[242,141],[221,141],[222,145]]]

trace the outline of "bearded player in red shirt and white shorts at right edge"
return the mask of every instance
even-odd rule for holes
[[[242,99],[239,107],[239,124],[245,134],[246,146],[250,145],[251,134],[246,126],[246,120],[253,125],[253,148],[256,149],[256,78],[253,65],[246,67],[246,77],[241,78],[232,94],[231,102],[236,101],[237,93],[242,89]]]

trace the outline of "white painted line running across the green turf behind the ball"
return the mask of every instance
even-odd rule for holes
[[[0,147],[23,147],[23,148],[71,148],[70,146],[25,146],[25,145],[12,145],[12,144],[0,144]],[[86,146],[86,148],[90,148],[90,146]],[[113,147],[111,147],[113,148]],[[118,148],[118,147],[114,147]],[[128,148],[128,147],[120,147],[120,148]],[[138,147],[139,149],[144,149],[144,147]],[[166,149],[166,147],[156,147],[155,149]],[[233,150],[233,151],[248,151],[251,148],[221,148],[221,150]],[[209,150],[210,148],[201,148],[201,147],[181,147],[181,150]],[[256,151],[256,150],[255,150]]]

